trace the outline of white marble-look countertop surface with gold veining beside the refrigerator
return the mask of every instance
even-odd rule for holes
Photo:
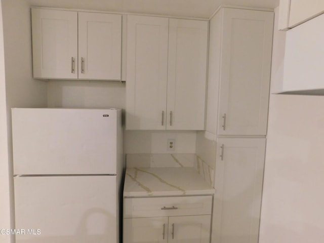
[[[206,194],[214,188],[192,167],[126,169],[124,197]]]

